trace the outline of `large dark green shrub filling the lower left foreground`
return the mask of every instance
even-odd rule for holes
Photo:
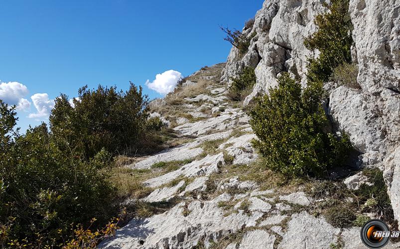
[[[100,218],[97,225],[106,222],[113,188],[100,169],[110,155],[100,151],[86,161],[60,150],[45,124],[13,133],[13,109],[1,103],[0,110],[0,226],[8,226],[1,244],[54,246],[71,223],[87,225],[93,217]]]

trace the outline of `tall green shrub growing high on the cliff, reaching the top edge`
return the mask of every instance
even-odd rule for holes
[[[332,0],[326,7],[329,12],[315,17],[318,31],[304,40],[308,49],[318,49],[320,56],[310,58],[307,78],[310,81],[326,82],[337,66],[351,63],[350,47],[353,43],[349,10],[349,0]]]

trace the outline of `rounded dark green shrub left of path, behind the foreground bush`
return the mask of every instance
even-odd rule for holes
[[[89,159],[102,148],[112,153],[135,149],[148,118],[148,98],[141,87],[131,83],[127,92],[83,87],[78,93],[74,108],[61,95],[50,115],[51,131],[62,151],[72,149]]]

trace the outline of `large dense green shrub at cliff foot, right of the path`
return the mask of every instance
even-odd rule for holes
[[[278,87],[256,100],[250,112],[260,150],[271,169],[290,176],[320,175],[347,157],[351,143],[346,134],[324,133],[328,124],[321,106],[322,86],[314,83],[303,91],[288,73]]]

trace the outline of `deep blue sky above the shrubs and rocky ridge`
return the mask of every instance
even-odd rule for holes
[[[160,97],[146,80],[226,61],[231,45],[219,25],[241,29],[263,1],[1,0],[0,96],[21,104],[22,129],[84,85],[125,90],[133,81]]]

